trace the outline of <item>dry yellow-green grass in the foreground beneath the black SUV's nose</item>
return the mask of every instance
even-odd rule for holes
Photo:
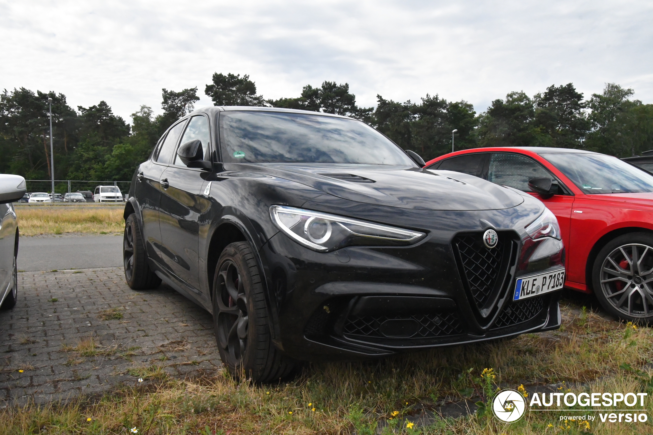
[[[562,388],[577,394],[645,391],[649,398],[653,395],[651,372],[646,368],[653,361],[651,329],[604,320],[573,305],[565,305],[562,311],[564,331],[378,361],[314,363],[292,382],[273,385],[239,383],[224,370],[208,378],[175,380],[165,374],[168,361],[161,358],[148,367],[131,369],[127,374],[133,376],[133,384],[103,398],[0,410],[0,435],[113,434],[133,427],[138,434],[223,435],[230,431],[234,435],[652,433],[650,417],[636,424],[601,423],[597,418],[586,430],[576,422],[559,421],[558,415],[579,413],[568,410],[526,413],[512,425],[500,425],[492,415],[473,414],[407,427],[406,419],[422,410],[469,396],[485,400],[487,392],[499,385],[566,382]],[[184,345],[176,342],[171,347]],[[94,343],[80,342],[69,352],[76,357],[97,349]],[[482,375],[485,368],[492,372],[485,370]],[[649,415],[650,403],[650,399],[645,402]]]

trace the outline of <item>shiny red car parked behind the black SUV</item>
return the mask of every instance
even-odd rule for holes
[[[529,192],[558,218],[565,286],[605,310],[653,323],[653,175],[616,157],[579,149],[494,147],[426,162]]]

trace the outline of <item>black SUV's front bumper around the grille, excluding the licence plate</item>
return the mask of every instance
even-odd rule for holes
[[[511,295],[518,277],[564,264],[562,242],[500,230],[505,247],[494,258],[498,273],[488,278],[475,274],[487,263],[466,265],[478,260],[466,240],[482,233],[329,253],[277,233],[260,251],[276,346],[297,359],[358,359],[558,328],[560,292],[523,301]],[[492,281],[485,295],[483,280]]]

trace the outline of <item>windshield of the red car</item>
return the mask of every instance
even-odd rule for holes
[[[585,194],[653,192],[653,175],[603,154],[542,154]]]

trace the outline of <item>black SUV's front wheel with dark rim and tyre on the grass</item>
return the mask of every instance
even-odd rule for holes
[[[227,245],[213,282],[215,342],[223,364],[236,379],[278,382],[296,362],[272,344],[261,273],[249,243]]]

